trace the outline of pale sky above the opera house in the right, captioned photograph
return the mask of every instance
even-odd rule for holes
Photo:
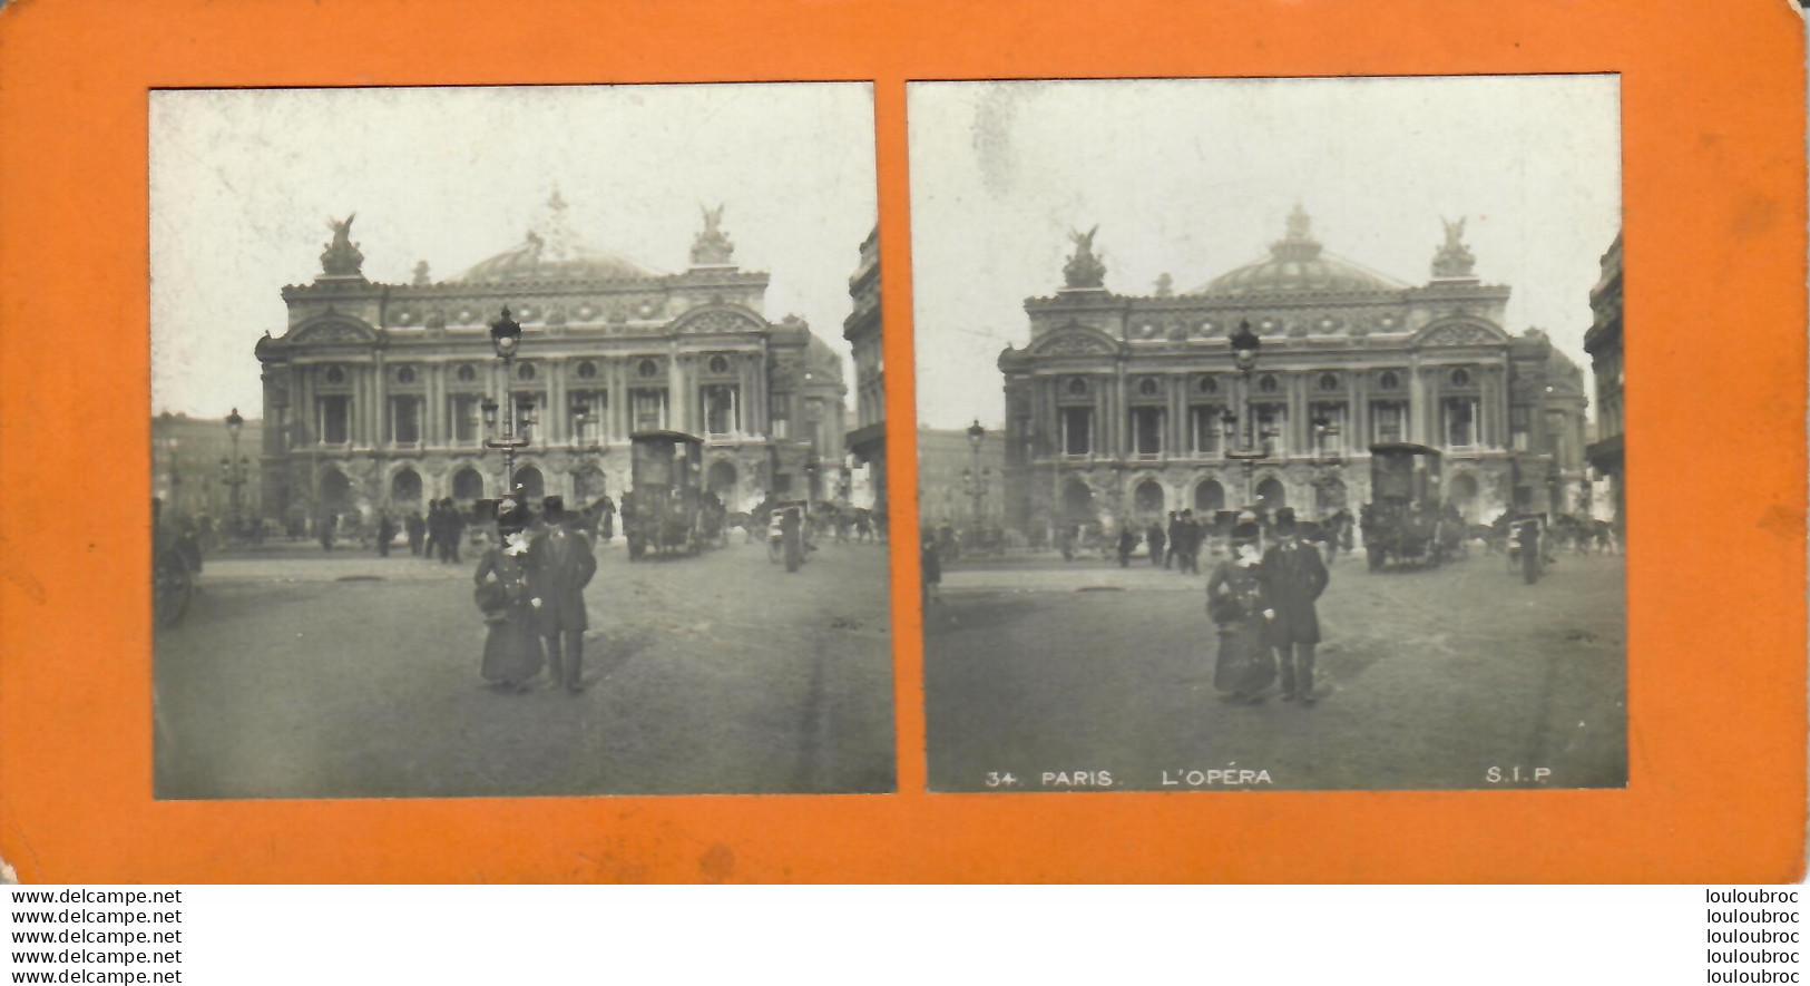
[[[1001,425],[996,360],[1099,224],[1106,288],[1189,291],[1267,257],[1296,203],[1325,250],[1424,284],[1444,219],[1508,327],[1582,367],[1622,223],[1616,76],[914,83],[918,418]]]

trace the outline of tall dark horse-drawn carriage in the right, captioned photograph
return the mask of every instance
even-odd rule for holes
[[[1439,449],[1412,441],[1370,445],[1370,503],[1363,505],[1361,523],[1372,572],[1386,564],[1437,568],[1453,543],[1439,503]]]

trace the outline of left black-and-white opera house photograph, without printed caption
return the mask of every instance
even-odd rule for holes
[[[156,90],[159,800],[889,792],[865,83]]]

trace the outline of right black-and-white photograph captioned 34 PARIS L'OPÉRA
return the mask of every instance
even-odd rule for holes
[[[934,791],[1627,783],[1618,96],[909,87]]]

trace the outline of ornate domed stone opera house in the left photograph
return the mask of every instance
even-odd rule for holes
[[[585,244],[556,194],[525,241],[449,280],[425,264],[376,284],[333,224],[322,273],[282,289],[288,329],[257,344],[270,516],[405,508],[503,488],[483,449],[485,398],[527,412],[516,481],[590,501],[630,487],[628,436],[699,434],[704,481],[731,508],[767,490],[822,496],[842,463],[842,360],[800,318],[762,313],[767,275],[742,271],[706,210],[684,273]],[[357,255],[357,259],[355,259]],[[512,378],[491,347],[501,308],[523,326]]]

